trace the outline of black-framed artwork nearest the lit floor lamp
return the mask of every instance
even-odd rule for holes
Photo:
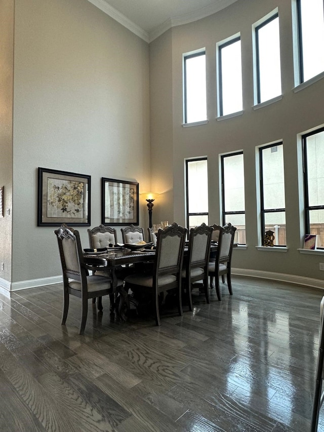
[[[101,223],[138,225],[139,184],[102,177]]]

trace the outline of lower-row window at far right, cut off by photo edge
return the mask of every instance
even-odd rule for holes
[[[302,138],[304,152],[305,234],[317,234],[324,248],[324,128]]]

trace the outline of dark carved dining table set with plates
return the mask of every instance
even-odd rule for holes
[[[217,242],[211,243],[211,252],[217,251]],[[184,259],[188,254],[188,242],[184,247]],[[92,269],[107,271],[112,279],[112,287],[117,287],[117,269],[121,266],[129,266],[130,264],[140,264],[145,262],[153,262],[155,259],[155,248],[145,249],[144,247],[138,250],[131,250],[125,247],[107,248],[105,252],[86,252],[84,253],[84,262]],[[117,297],[110,306],[110,311],[117,313],[117,316],[126,321],[127,310],[129,310],[129,296],[125,287],[120,287],[119,297]]]

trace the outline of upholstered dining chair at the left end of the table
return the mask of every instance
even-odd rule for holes
[[[63,272],[62,325],[65,324],[67,319],[69,296],[79,297],[82,299],[79,334],[84,334],[88,315],[88,299],[113,295],[120,287],[123,287],[123,281],[117,280],[117,286],[113,288],[112,279],[108,276],[89,276],[89,270],[96,270],[98,267],[87,265],[84,262],[80,236],[77,230],[62,224],[54,233],[58,241]],[[98,308],[102,310],[101,302],[98,304]]]

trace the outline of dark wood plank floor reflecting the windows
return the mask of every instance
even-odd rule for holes
[[[161,327],[89,302],[79,336],[61,285],[0,292],[0,431],[306,432],[324,292],[235,277],[222,293]]]

